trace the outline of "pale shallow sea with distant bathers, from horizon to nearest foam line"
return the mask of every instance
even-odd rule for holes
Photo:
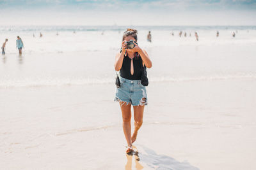
[[[113,83],[115,55],[127,27],[1,26],[0,43],[5,38],[8,42],[1,56],[0,88]],[[138,29],[138,44],[152,59],[150,81],[256,78],[255,26],[129,27]],[[17,36],[24,43],[21,56],[15,48]]]

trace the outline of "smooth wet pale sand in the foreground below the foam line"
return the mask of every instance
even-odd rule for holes
[[[151,83],[134,143],[141,166],[255,169],[255,85],[252,79]],[[112,84],[1,89],[1,169],[124,169],[113,90]]]

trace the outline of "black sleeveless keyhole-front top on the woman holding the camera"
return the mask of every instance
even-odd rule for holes
[[[120,76],[129,80],[141,80],[143,66],[140,55],[133,58],[133,70],[134,72],[131,74],[131,59],[128,57],[128,55],[124,56],[123,64],[120,69]]]

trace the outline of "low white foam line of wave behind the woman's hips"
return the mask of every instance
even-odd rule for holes
[[[197,76],[197,77],[149,77],[150,83],[161,82],[185,82],[185,81],[215,81],[215,80],[235,80],[235,79],[252,79],[256,80],[255,74],[244,75],[223,75],[223,76]],[[0,89],[15,88],[15,87],[59,87],[59,86],[80,86],[80,85],[104,85],[115,84],[115,78],[81,78],[81,79],[57,79],[40,81],[36,80],[0,80]]]

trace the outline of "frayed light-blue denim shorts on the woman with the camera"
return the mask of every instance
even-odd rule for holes
[[[147,90],[146,87],[141,85],[141,80],[129,80],[120,78],[121,87],[116,88],[115,101],[123,101],[132,106],[147,105]],[[123,103],[123,104],[124,104]]]

